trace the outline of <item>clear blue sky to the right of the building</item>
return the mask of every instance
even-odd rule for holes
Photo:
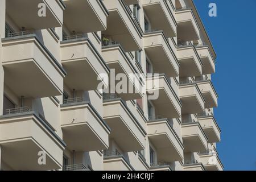
[[[217,53],[218,153],[225,170],[256,170],[256,1],[194,2]],[[211,2],[217,17],[208,15]]]

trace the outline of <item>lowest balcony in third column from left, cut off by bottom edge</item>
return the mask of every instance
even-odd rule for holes
[[[104,171],[134,171],[126,158],[117,150],[104,151]]]

